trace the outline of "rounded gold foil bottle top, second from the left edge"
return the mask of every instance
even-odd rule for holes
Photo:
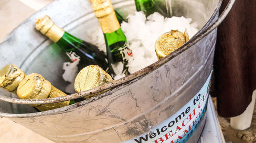
[[[52,84],[40,74],[32,73],[26,76],[18,85],[17,95],[20,99],[48,98]]]

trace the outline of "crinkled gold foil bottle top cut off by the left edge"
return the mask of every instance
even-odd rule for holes
[[[15,65],[6,65],[0,70],[0,87],[12,92],[24,77],[25,73]]]

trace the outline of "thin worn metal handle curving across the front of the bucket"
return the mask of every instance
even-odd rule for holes
[[[236,0],[229,0],[226,8],[224,9],[222,14],[219,16],[219,18],[214,23],[212,23],[210,26],[208,26],[208,28],[206,28],[206,30],[204,30],[203,32],[198,34],[196,37],[191,38],[189,40],[191,42],[185,43],[181,48],[179,48],[176,51],[174,51],[173,53],[171,53],[170,56],[168,56],[168,58],[167,57],[163,58],[161,63],[168,62],[169,60],[175,58],[175,56],[179,55],[180,53],[182,53],[183,51],[185,51],[189,47],[193,46],[198,41],[203,39],[206,35],[208,35],[211,31],[215,30],[215,28],[217,28],[220,25],[220,23],[225,19],[225,17],[227,16],[228,12],[232,8],[235,1]],[[143,76],[143,72],[139,72],[137,74],[137,76],[133,76],[133,77],[135,79],[139,76]],[[7,97],[7,96],[3,96],[3,95],[0,94],[0,100],[10,102],[10,103],[16,103],[16,104],[57,103],[57,102],[68,101],[68,100],[72,100],[72,99],[77,99],[77,98],[89,96],[91,94],[95,94],[95,93],[98,93],[98,92],[101,92],[101,91],[104,91],[104,90],[107,90],[107,89],[110,89],[110,88],[117,87],[118,85],[129,81],[129,79],[130,79],[130,81],[134,80],[134,79],[131,79],[129,77],[130,76],[127,76],[127,77],[124,77],[123,80],[117,80],[117,82],[106,83],[106,84],[104,84],[100,87],[96,87],[94,89],[90,89],[90,90],[87,90],[87,91],[83,91],[83,92],[80,92],[80,93],[75,93],[75,94],[71,94],[71,95],[67,95],[67,96],[47,98],[47,99],[18,99],[18,98],[11,98],[11,97]],[[128,79],[128,80],[126,80],[126,79]]]

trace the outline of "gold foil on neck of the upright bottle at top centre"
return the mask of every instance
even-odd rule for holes
[[[110,0],[91,0],[91,2],[103,33],[112,33],[120,28]]]

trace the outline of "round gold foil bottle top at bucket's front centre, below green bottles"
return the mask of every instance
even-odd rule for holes
[[[97,65],[83,68],[76,76],[75,90],[82,92],[114,81],[112,77]]]

